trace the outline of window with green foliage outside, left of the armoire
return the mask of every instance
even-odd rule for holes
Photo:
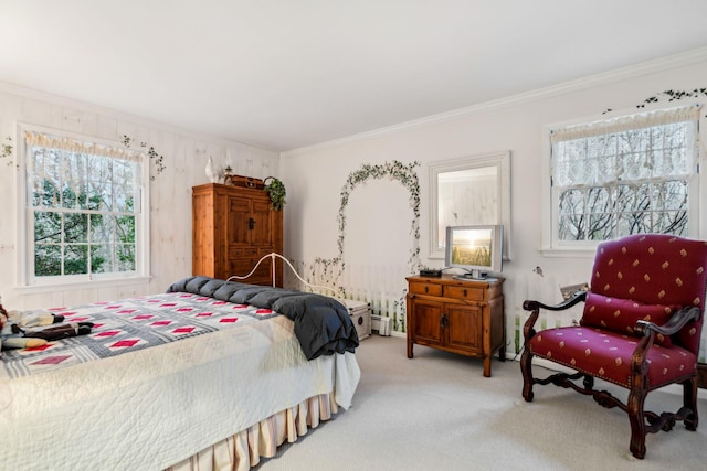
[[[24,151],[27,285],[147,275],[144,156],[34,131]]]

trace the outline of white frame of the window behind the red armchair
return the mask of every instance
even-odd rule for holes
[[[704,101],[696,100],[694,105],[701,106]],[[552,143],[550,135],[553,129],[579,126],[590,124],[594,121],[616,119],[633,115],[640,115],[650,111],[659,111],[664,109],[675,108],[676,106],[689,106],[689,103],[685,104],[655,104],[653,106],[645,106],[640,109],[630,108],[620,111],[613,111],[611,115],[592,115],[582,118],[553,122],[542,126],[541,129],[541,205],[542,205],[542,245],[540,253],[550,257],[593,257],[597,251],[597,246],[602,240],[560,240],[558,238],[558,202],[556,192],[552,189]],[[703,107],[704,108],[704,107]],[[707,175],[701,169],[701,164],[707,159],[707,151],[705,151],[704,142],[707,141],[705,136],[705,127],[703,125],[704,109],[700,108],[699,118],[697,120],[696,132],[696,154],[695,167],[696,171],[693,172],[688,179],[689,188],[689,203],[688,203],[688,235],[689,238],[704,239],[707,235],[707,216],[700,217],[700,207],[707,207]]]

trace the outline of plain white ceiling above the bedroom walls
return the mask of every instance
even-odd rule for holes
[[[0,0],[0,82],[286,151],[700,49],[706,19],[704,0]]]

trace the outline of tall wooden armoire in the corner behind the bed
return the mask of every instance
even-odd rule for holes
[[[207,183],[192,188],[192,274],[228,279],[245,276],[270,253],[283,254],[283,212],[271,207],[262,189]],[[268,258],[246,280],[272,286]],[[275,259],[275,285],[283,264]]]

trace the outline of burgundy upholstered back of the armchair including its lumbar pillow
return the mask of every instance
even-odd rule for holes
[[[684,307],[699,320],[656,342],[697,354],[707,289],[707,242],[665,234],[635,234],[599,244],[581,323],[633,333],[639,319],[665,323]]]

